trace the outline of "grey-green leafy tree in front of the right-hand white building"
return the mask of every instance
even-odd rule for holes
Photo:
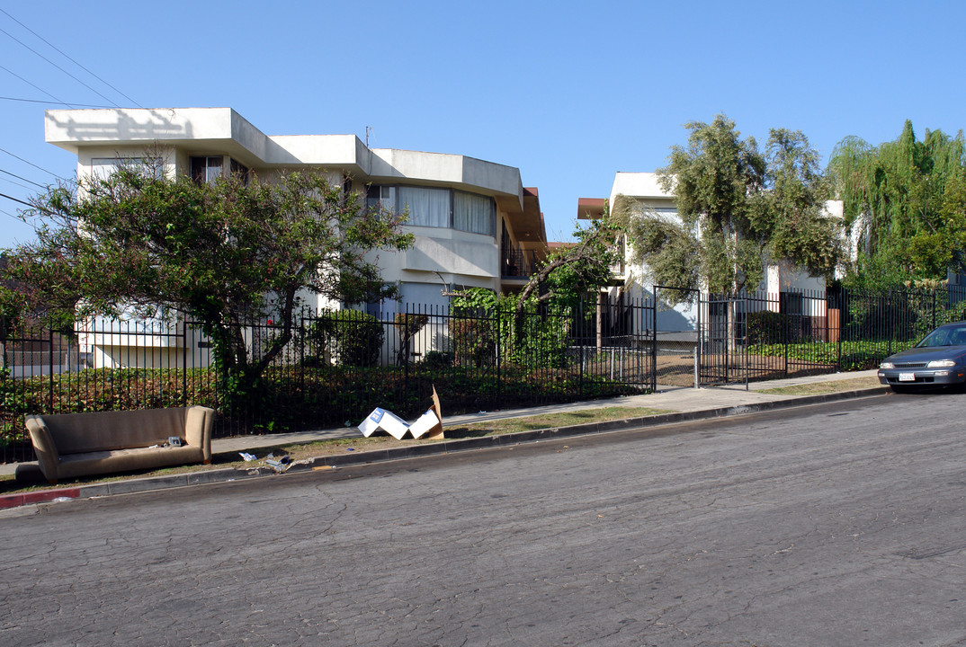
[[[838,222],[823,213],[827,188],[805,135],[773,128],[762,154],[724,115],[686,127],[688,145],[672,147],[658,171],[677,217],[615,200],[632,260],[656,282],[687,289],[672,295],[681,300],[702,287],[721,295],[754,288],[768,261],[831,275],[841,257]]]

